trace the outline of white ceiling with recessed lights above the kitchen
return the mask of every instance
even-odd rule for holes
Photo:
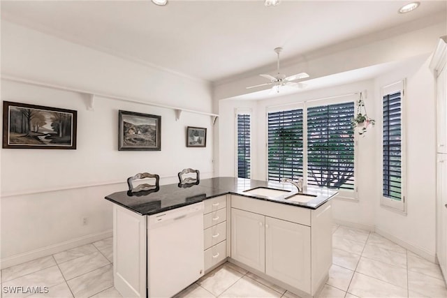
[[[447,11],[447,1],[1,1],[1,17],[120,57],[218,82]]]

